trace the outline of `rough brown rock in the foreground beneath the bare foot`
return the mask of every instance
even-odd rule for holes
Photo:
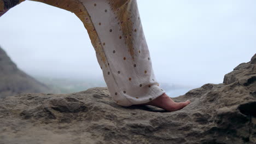
[[[0,100],[0,143],[256,143],[256,55],[176,101],[182,110],[122,107],[107,87]]]

